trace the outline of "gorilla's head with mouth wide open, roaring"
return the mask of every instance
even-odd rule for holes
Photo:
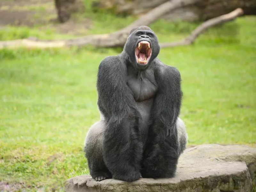
[[[135,68],[146,69],[160,51],[156,34],[147,26],[133,28],[124,45]]]

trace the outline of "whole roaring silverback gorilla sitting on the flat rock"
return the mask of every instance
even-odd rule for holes
[[[173,177],[186,148],[178,117],[180,73],[158,58],[156,34],[132,29],[124,50],[101,61],[97,91],[100,121],[85,139],[85,157],[96,181]]]

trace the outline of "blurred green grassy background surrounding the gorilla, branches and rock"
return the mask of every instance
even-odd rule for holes
[[[0,45],[23,38],[47,42],[112,33],[166,2],[1,0]],[[159,59],[181,73],[180,117],[188,147],[256,147],[256,0],[191,2],[183,0],[183,6],[149,25],[159,42],[183,40],[202,22],[238,7],[244,15],[208,29],[194,44],[160,51]],[[100,118],[98,66],[122,50],[1,47],[0,191],[61,191],[65,180],[89,173],[83,145]]]

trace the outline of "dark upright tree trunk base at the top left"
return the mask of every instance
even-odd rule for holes
[[[81,0],[54,0],[58,12],[58,20],[64,23],[69,20],[72,12],[77,12],[83,8]]]

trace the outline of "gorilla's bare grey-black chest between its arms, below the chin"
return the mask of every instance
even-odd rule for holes
[[[150,69],[137,74],[129,73],[128,69],[127,85],[132,90],[137,102],[154,97],[157,91],[154,71]]]

